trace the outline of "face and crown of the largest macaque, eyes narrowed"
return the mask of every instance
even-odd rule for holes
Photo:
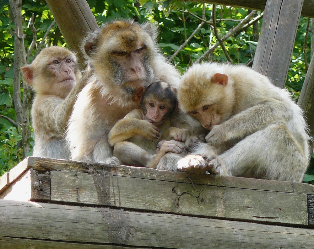
[[[127,92],[151,83],[154,42],[139,24],[116,21],[101,27],[97,37],[99,47],[91,57],[100,78],[109,78],[115,85],[127,88]],[[89,44],[85,50],[91,47]]]

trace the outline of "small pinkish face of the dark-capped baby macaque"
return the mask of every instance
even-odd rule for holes
[[[167,117],[171,107],[167,102],[161,102],[154,98],[149,99],[145,102],[146,115],[145,120],[148,120],[151,124],[159,126]]]

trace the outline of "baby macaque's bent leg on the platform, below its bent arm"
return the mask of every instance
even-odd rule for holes
[[[147,151],[127,141],[116,143],[113,149],[113,156],[117,157],[122,165],[143,167],[152,158]]]

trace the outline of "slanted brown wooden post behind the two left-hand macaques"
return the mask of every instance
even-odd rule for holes
[[[80,46],[85,35],[98,29],[96,19],[86,0],[46,0],[57,25],[71,50],[83,66]]]

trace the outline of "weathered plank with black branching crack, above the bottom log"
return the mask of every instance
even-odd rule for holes
[[[51,171],[50,177],[51,201],[280,224],[308,224],[305,194],[67,171]]]

